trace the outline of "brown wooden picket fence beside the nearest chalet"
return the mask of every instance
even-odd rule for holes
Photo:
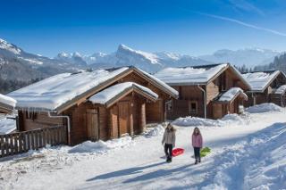
[[[46,145],[67,143],[64,126],[34,129],[7,135],[0,135],[0,157],[38,150]]]

